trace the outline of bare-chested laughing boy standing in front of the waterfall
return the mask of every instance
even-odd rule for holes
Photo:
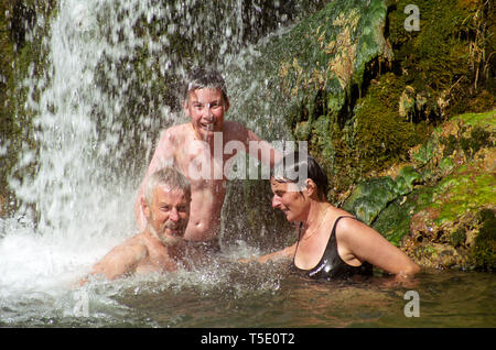
[[[183,110],[190,122],[162,132],[134,210],[142,226],[143,212],[139,203],[148,176],[165,165],[173,165],[190,181],[192,189],[191,217],[184,239],[213,242],[219,231],[226,196],[226,164],[237,154],[236,150],[224,152],[225,145],[236,143],[270,166],[279,160],[279,153],[242,124],[224,119],[229,110],[229,99],[225,81],[216,70],[193,70],[185,84],[183,98]],[[254,143],[257,147],[250,146]]]

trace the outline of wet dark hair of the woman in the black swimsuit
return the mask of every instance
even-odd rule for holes
[[[317,187],[317,195],[324,199],[327,196],[328,178],[319,163],[310,154],[295,151],[287,154],[270,172],[278,183],[294,183],[303,189],[306,178],[312,179]]]

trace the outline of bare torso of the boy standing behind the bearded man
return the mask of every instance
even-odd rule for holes
[[[190,123],[185,123],[163,131],[149,172],[172,163],[190,181],[192,201],[184,239],[209,241],[220,227],[227,187],[225,165],[236,156],[236,151],[233,154],[214,154],[215,147],[207,141],[198,140],[192,129]],[[249,141],[259,141],[252,132],[236,122],[225,122],[224,132],[216,133],[216,136],[223,139],[222,150],[229,141],[240,141],[247,150]]]

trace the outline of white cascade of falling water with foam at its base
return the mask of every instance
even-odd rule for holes
[[[101,136],[95,118],[95,111],[103,110],[111,125],[120,108],[118,96],[107,96],[95,73],[104,54],[119,59],[140,43],[126,40],[127,47],[119,47],[107,42],[96,17],[101,4],[62,1],[50,37],[42,39],[48,52],[45,74],[23,81],[30,88],[25,107],[35,116],[39,146],[25,145],[19,163],[35,165],[34,175],[26,172],[22,182],[11,181],[23,206],[1,221],[0,299],[6,307],[18,299],[50,300],[47,295],[69,289],[134,231],[134,192],[109,171],[112,156],[121,161],[118,130]],[[112,21],[109,25],[126,29]]]

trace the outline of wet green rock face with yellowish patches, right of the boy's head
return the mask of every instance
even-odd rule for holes
[[[283,116],[278,123],[287,124],[298,140],[314,144],[322,160],[332,157],[333,119],[348,105],[353,86],[362,86],[368,63],[391,58],[384,37],[386,14],[381,0],[331,1],[289,32],[263,41],[249,69],[233,72],[246,81],[241,95],[259,90],[257,98],[250,92],[254,102],[239,98],[245,113],[255,119]],[[254,81],[259,81],[257,88]],[[277,125],[269,128],[273,131]]]

